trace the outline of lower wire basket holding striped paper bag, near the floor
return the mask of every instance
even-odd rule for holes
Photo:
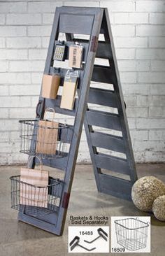
[[[62,180],[49,177],[49,185],[46,187],[24,183],[20,176],[11,176],[10,180],[11,208],[34,216],[58,211],[63,189]],[[27,192],[27,196],[22,196],[21,190]]]

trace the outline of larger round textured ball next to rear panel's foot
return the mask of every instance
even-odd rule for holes
[[[140,178],[131,190],[132,201],[141,211],[152,211],[153,201],[163,194],[165,194],[165,185],[154,176]]]

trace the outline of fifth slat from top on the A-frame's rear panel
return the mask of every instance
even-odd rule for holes
[[[88,125],[96,125],[108,129],[121,131],[121,124],[119,115],[113,113],[106,113],[101,111],[94,111],[89,109],[87,112]]]

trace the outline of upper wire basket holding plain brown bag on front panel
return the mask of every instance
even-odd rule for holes
[[[20,120],[20,152],[41,158],[57,158],[67,155],[69,126],[58,127],[44,125],[48,120]]]

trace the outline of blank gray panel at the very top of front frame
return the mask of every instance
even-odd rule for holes
[[[62,13],[59,16],[59,32],[91,34],[94,15],[76,15]]]

